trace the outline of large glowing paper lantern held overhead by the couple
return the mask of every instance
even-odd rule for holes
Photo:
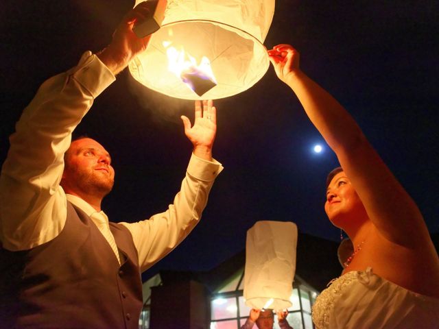
[[[152,35],[147,51],[132,60],[130,73],[147,88],[182,99],[241,93],[268,69],[263,41],[273,14],[274,0],[168,0],[161,29]],[[202,80],[213,84],[202,86],[201,96],[182,77],[200,70]]]

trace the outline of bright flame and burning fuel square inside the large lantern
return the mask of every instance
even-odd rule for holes
[[[169,41],[163,42],[168,59],[168,70],[185,82],[198,96],[202,96],[217,85],[209,58],[203,56],[200,64],[197,64],[195,58],[186,53],[183,47],[178,50],[170,45]]]

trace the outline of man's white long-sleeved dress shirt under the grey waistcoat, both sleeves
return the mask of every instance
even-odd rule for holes
[[[114,80],[99,58],[87,51],[78,66],[44,82],[23,111],[16,132],[10,137],[10,150],[0,175],[0,241],[5,249],[31,249],[51,241],[62,231],[67,197],[60,180],[71,132],[95,97]],[[220,171],[219,162],[192,154],[174,204],[149,220],[122,223],[132,234],[142,270],[174,249],[198,223]],[[117,249],[115,254],[118,256]]]

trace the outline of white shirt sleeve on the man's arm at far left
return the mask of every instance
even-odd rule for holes
[[[61,232],[67,217],[60,187],[64,152],[93,99],[114,80],[87,51],[78,66],[44,82],[23,111],[0,175],[0,239],[5,249],[30,249]]]

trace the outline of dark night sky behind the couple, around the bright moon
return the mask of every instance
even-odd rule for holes
[[[38,86],[83,51],[111,40],[134,1],[3,1],[0,160]],[[438,1],[276,1],[265,46],[290,43],[301,68],[345,106],[439,232]],[[202,221],[158,269],[207,270],[245,247],[259,220],[294,221],[301,232],[337,241],[324,215],[324,180],[335,154],[272,67],[250,90],[219,99],[214,157],[224,171]],[[76,130],[110,151],[115,188],[103,209],[139,221],[172,202],[191,154],[180,115],[193,102],[139,87],[128,70],[102,93]],[[313,145],[321,143],[321,154]],[[413,232],[416,234],[416,232]],[[301,252],[298,250],[298,252]],[[302,251],[306,252],[306,251]]]

